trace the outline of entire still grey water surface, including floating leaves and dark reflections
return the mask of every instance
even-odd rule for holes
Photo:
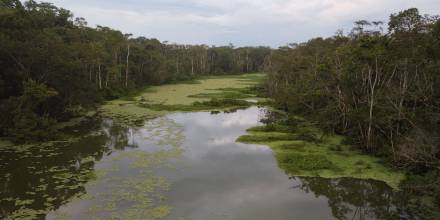
[[[384,183],[289,177],[267,146],[236,143],[264,109],[175,113],[0,152],[5,219],[403,219]],[[98,125],[98,126],[96,126]]]

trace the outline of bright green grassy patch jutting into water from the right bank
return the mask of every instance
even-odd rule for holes
[[[344,145],[342,137],[323,135],[308,125],[254,127],[237,141],[270,146],[280,168],[293,176],[374,179],[394,189],[405,178],[379,158]]]

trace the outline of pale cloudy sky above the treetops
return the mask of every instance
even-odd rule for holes
[[[272,46],[346,32],[355,20],[387,21],[417,7],[440,14],[440,0],[46,0],[135,36],[184,44]]]

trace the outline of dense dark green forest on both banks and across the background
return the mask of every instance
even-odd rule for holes
[[[266,72],[276,108],[409,171],[403,189],[440,216],[439,16],[412,8],[354,25],[278,49],[179,45],[0,0],[0,136],[44,141],[57,122],[149,85]]]

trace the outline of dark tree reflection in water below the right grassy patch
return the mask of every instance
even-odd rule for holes
[[[324,196],[337,219],[415,219],[405,211],[400,193],[383,182],[353,178],[292,177],[306,193]]]

